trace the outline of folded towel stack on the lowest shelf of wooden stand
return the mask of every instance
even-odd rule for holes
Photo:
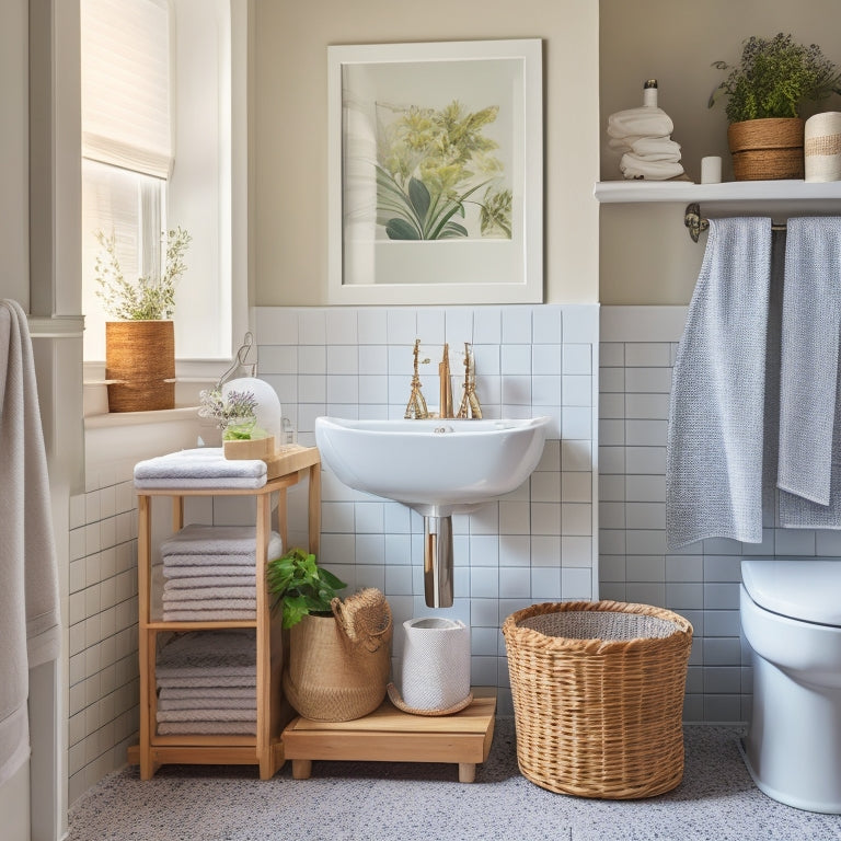
[[[256,663],[253,631],[175,636],[158,653],[158,733],[255,735]]]

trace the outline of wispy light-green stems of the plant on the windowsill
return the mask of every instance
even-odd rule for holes
[[[127,280],[117,257],[114,232],[106,237],[95,231],[102,252],[96,255],[94,276],[99,284],[96,297],[106,312],[119,321],[152,321],[171,319],[175,311],[175,286],[187,270],[184,255],[192,237],[183,228],[166,232],[166,255],[163,274],[146,275]]]

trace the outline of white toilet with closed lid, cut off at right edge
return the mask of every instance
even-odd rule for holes
[[[841,561],[746,558],[741,580],[748,770],[780,803],[841,814]]]

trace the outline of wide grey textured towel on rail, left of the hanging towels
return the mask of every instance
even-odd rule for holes
[[[771,220],[711,219],[672,372],[666,448],[669,549],[762,542]]]

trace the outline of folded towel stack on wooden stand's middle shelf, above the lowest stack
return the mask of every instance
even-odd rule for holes
[[[163,621],[218,622],[256,618],[253,526],[186,526],[161,544]],[[268,557],[283,552],[272,532]]]

